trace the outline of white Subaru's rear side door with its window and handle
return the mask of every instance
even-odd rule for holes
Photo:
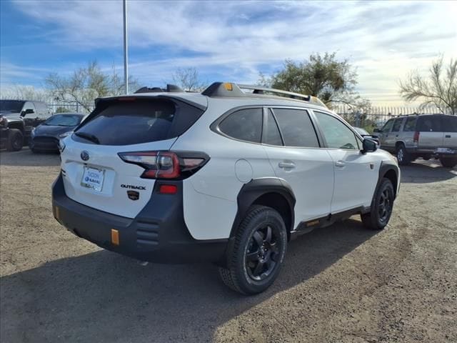
[[[319,146],[304,109],[268,109],[262,137],[276,177],[291,185],[296,197],[296,225],[330,213],[333,161]]]

